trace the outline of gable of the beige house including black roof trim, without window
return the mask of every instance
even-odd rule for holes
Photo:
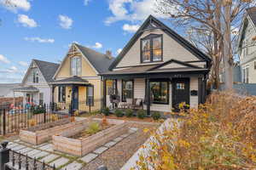
[[[134,65],[147,65],[141,64],[140,61],[140,39],[148,36],[149,34],[163,35],[162,62],[169,59],[178,59],[183,61],[203,60],[207,61],[208,66],[210,65],[211,59],[207,57],[206,54],[203,54],[183,37],[180,37],[176,32],[172,31],[169,27],[165,26],[159,20],[156,20],[150,15],[143,23],[143,26],[141,26],[137,33],[131,38],[130,42],[126,44],[117,59],[115,59],[113,64],[110,66],[110,70]]]

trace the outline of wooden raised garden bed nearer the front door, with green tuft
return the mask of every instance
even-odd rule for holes
[[[90,120],[90,121],[89,121]],[[80,125],[73,129],[63,131],[59,135],[54,135],[52,141],[54,150],[58,150],[73,156],[84,156],[90,151],[96,150],[102,144],[108,143],[111,139],[117,138],[119,135],[128,132],[128,125],[125,121],[108,120],[108,123],[113,125],[98,133],[92,134],[88,137],[73,139],[73,136],[81,133],[86,129],[91,122],[102,122],[102,119],[93,118],[88,119],[87,123]]]

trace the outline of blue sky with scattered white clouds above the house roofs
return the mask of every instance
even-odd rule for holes
[[[154,0],[0,0],[0,83],[32,59],[60,63],[72,42],[116,56],[149,14],[167,22]]]

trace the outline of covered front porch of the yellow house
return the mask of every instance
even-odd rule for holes
[[[81,77],[51,82],[52,102],[58,110],[90,112],[94,106],[94,86]]]

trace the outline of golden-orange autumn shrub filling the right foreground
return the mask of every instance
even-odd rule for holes
[[[256,168],[256,97],[215,93],[179,114],[161,133],[151,132],[138,169]]]

